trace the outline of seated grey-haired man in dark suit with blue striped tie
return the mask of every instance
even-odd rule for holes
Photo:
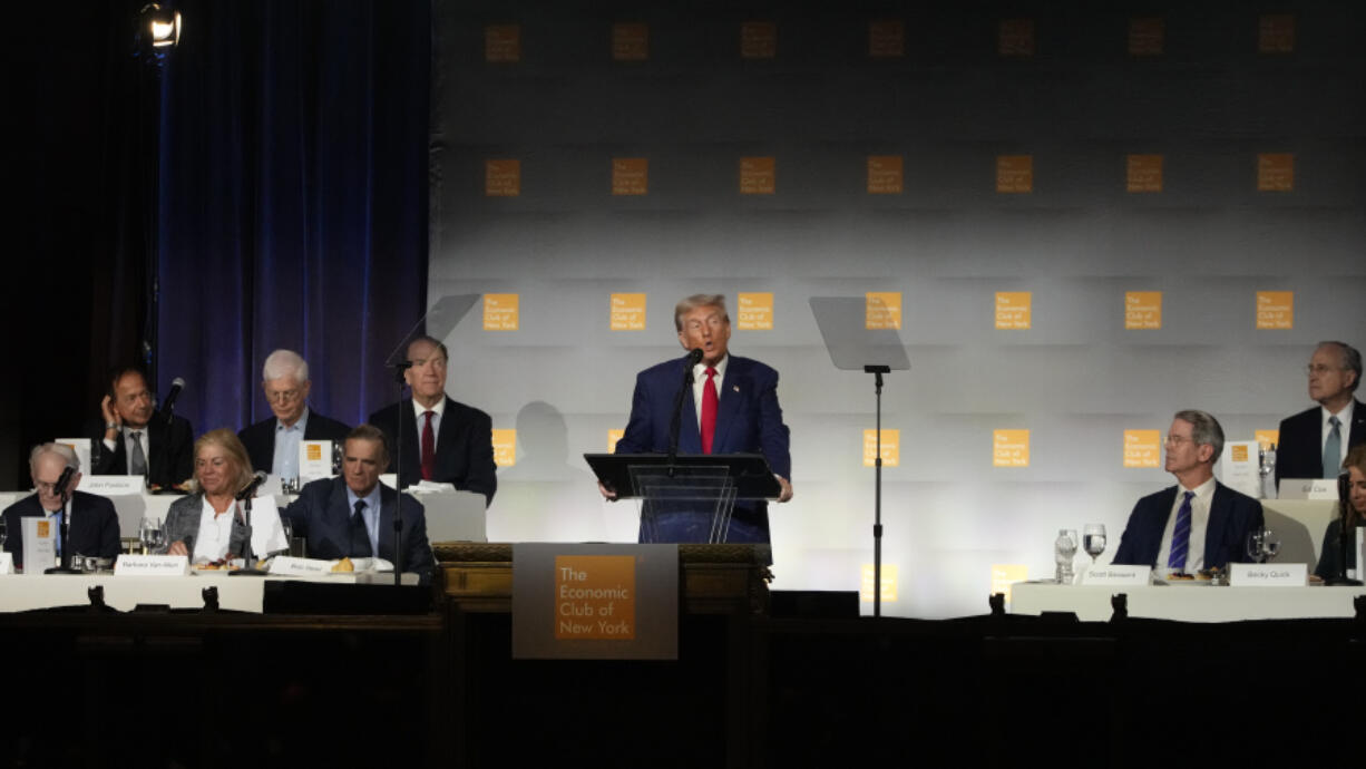
[[[1262,504],[1214,479],[1224,451],[1218,421],[1177,411],[1165,448],[1177,485],[1138,500],[1115,563],[1195,574],[1247,561],[1247,534],[1262,527]]]

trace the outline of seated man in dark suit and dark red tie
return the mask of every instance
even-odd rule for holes
[[[492,503],[499,489],[493,421],[484,411],[447,397],[445,344],[419,336],[408,343],[408,362],[413,366],[404,377],[413,388],[413,400],[370,414],[370,423],[403,452],[399,486],[406,489],[418,481],[454,484]],[[398,443],[400,419],[402,444]]]

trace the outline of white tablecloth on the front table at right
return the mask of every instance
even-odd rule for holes
[[[1235,621],[1355,616],[1352,598],[1366,587],[1087,587],[1016,583],[1011,613],[1076,612],[1082,621],[1109,620],[1111,596],[1128,596],[1128,616],[1180,621]]]

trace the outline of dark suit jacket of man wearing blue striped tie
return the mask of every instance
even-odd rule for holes
[[[1138,500],[1134,512],[1128,515],[1113,563],[1167,565],[1157,563],[1157,553],[1162,548],[1167,519],[1176,503],[1176,489],[1177,486],[1171,486]],[[1247,563],[1247,534],[1262,525],[1262,503],[1216,481],[1205,526],[1205,568]]]

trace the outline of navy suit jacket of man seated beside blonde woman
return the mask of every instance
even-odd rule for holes
[[[399,504],[393,489],[380,486],[380,557],[398,564],[393,550],[393,511]],[[426,538],[422,504],[403,494],[403,571],[432,576],[436,560]],[[351,509],[346,478],[324,478],[303,486],[299,499],[290,503],[284,515],[294,525],[294,534],[307,541],[310,559],[372,557],[370,537],[365,522]]]

